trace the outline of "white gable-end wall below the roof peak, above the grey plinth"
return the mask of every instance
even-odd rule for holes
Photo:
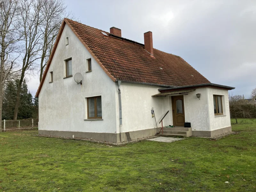
[[[66,46],[65,38],[69,44]],[[65,59],[72,57],[73,77],[65,78]],[[92,59],[92,72],[86,73],[86,60]],[[49,83],[53,71],[53,83]],[[83,84],[76,84],[74,75],[84,76]],[[102,119],[87,118],[85,97],[101,95]],[[100,68],[72,30],[65,25],[52,63],[39,94],[39,130],[105,132],[116,130],[116,86]]]

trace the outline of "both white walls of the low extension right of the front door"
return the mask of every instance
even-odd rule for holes
[[[196,97],[201,93],[200,100]],[[222,95],[223,115],[214,115],[213,95]],[[184,95],[185,121],[191,123],[193,131],[213,131],[231,126],[228,90],[210,87],[198,88]]]

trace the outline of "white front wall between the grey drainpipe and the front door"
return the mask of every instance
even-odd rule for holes
[[[172,100],[169,100],[169,97],[152,97],[159,93],[158,88],[160,87],[121,83],[123,132],[153,129],[156,123],[157,127],[162,126],[159,121],[168,110],[172,109]],[[116,106],[119,112],[119,102]],[[156,122],[151,116],[152,108],[155,111]],[[172,125],[172,110],[163,120],[163,126],[169,124]],[[158,130],[160,131],[160,128]]]

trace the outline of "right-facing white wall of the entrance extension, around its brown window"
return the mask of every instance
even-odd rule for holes
[[[229,113],[228,90],[208,87],[207,93],[208,93],[208,102],[209,102],[210,130],[213,131],[213,130],[221,129],[224,127],[230,127],[231,123],[230,123],[230,113]],[[222,96],[223,115],[221,116],[214,115],[213,95]]]

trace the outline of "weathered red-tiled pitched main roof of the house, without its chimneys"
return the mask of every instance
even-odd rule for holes
[[[154,56],[152,56],[144,49],[144,44],[114,36],[106,31],[92,28],[73,20],[64,19],[36,97],[38,97],[44,83],[65,24],[68,24],[92,54],[92,57],[114,82],[121,80],[169,86],[210,83],[179,56],[157,49],[153,50]],[[108,36],[103,35],[101,32],[105,32]]]

